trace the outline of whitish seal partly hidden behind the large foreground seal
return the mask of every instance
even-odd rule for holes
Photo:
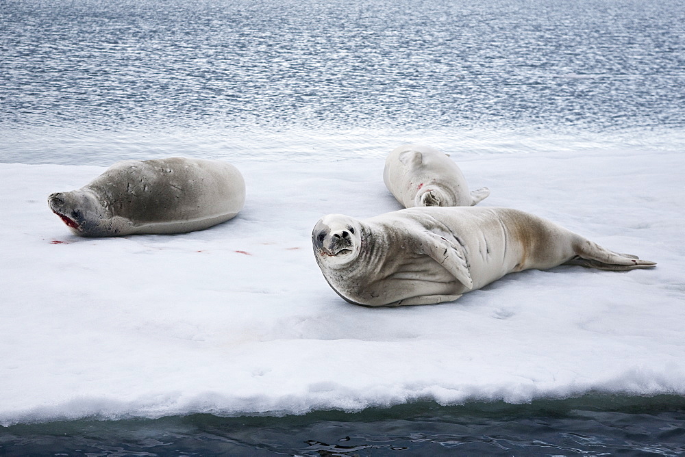
[[[445,153],[419,144],[393,149],[383,181],[405,208],[469,207],[490,195],[487,187],[469,192],[462,170]]]

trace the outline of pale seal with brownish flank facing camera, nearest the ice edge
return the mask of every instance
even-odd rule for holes
[[[508,208],[421,207],[366,220],[331,214],[314,226],[312,244],[329,285],[366,306],[448,302],[510,272],[562,263],[617,271],[656,265]]]

